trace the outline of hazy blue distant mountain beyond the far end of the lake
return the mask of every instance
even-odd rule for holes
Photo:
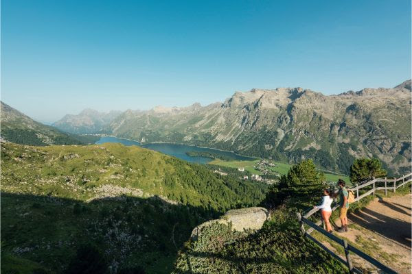
[[[121,113],[115,110],[103,113],[87,109],[78,115],[67,114],[56,123],[53,123],[53,125],[64,132],[73,134],[99,133]]]

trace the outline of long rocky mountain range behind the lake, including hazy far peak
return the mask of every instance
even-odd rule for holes
[[[323,95],[303,88],[236,92],[223,103],[186,108],[85,110],[54,123],[71,133],[100,133],[139,142],[179,142],[264,158],[313,158],[347,173],[354,158],[376,157],[390,173],[411,162],[411,80],[394,88]],[[98,122],[93,122],[98,121]]]

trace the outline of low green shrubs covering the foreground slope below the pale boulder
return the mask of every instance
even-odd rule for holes
[[[226,225],[205,227],[187,243],[173,273],[345,273],[345,266],[302,238],[288,210],[273,212],[255,234],[233,232]],[[294,224],[295,223],[295,224]]]

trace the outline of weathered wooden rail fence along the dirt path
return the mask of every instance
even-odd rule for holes
[[[376,190],[385,190],[385,196],[386,196],[388,190],[392,191],[392,192],[396,192],[397,188],[400,188],[401,186],[404,186],[405,184],[407,184],[411,181],[412,181],[412,173],[409,173],[407,175],[404,175],[403,177],[394,178],[394,179],[387,179],[386,177],[383,178],[383,179],[372,179],[371,181],[365,182],[361,185],[356,184],[356,186],[354,188],[350,188],[350,190],[352,190],[354,192],[354,194],[356,193],[355,202],[358,202],[361,199],[367,197],[368,195],[371,195],[371,194],[375,195]],[[383,185],[383,186],[378,186],[378,185]],[[365,193],[363,193],[362,195],[359,195],[359,190],[361,190],[362,188],[366,188],[366,187],[368,187],[367,191]],[[334,206],[334,208],[332,208],[332,210],[336,210],[336,208],[338,208],[338,206]],[[352,260],[350,258],[350,251],[352,251],[353,253],[355,253],[359,257],[365,259],[367,262],[370,262],[374,266],[378,267],[378,269],[382,270],[385,273],[389,273],[389,274],[396,273],[396,271],[393,271],[393,269],[390,269],[388,266],[385,266],[385,264],[382,264],[381,262],[378,262],[378,260],[376,260],[374,258],[371,258],[371,256],[367,255],[363,251],[361,251],[361,250],[357,249],[356,247],[348,244],[346,240],[343,240],[343,239],[335,236],[334,234],[331,234],[331,233],[325,231],[325,229],[323,229],[322,227],[319,226],[319,225],[321,225],[322,221],[317,221],[317,223],[312,223],[312,221],[309,221],[308,218],[310,216],[312,216],[312,214],[314,214],[318,210],[319,209],[317,209],[317,208],[313,208],[312,210],[309,210],[308,212],[305,212],[304,216],[301,216],[300,213],[297,214],[297,219],[299,220],[299,223],[301,224],[301,226],[300,226],[301,233],[304,237],[309,238],[310,240],[315,242],[317,245],[319,245],[319,247],[321,247],[323,250],[328,252],[332,257],[336,258],[336,260],[339,260],[339,262],[341,262],[342,264],[345,264],[347,266],[347,268],[349,269],[350,273],[360,273],[360,274],[362,273],[361,270],[356,269],[352,265]],[[304,225],[308,225],[309,229],[306,230]],[[345,250],[345,259],[346,260],[343,260],[339,255],[337,255],[336,253],[334,253],[333,251],[328,249],[328,247],[325,247],[325,245],[323,245],[321,242],[319,242],[319,240],[317,240],[313,236],[311,236],[310,234],[314,230],[316,230],[317,232],[320,232],[321,234],[327,236],[328,238],[330,238],[334,242],[341,245],[343,247],[343,249]]]

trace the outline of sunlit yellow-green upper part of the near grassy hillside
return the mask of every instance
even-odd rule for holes
[[[104,195],[101,192],[106,190],[102,188],[115,185],[121,186],[127,193],[142,192],[142,197],[161,195],[194,206],[224,206],[222,201],[210,197],[211,193],[199,189],[205,187],[202,185],[202,173],[209,176],[207,169],[149,149],[114,143],[49,147],[3,143],[2,153],[3,191],[85,201]],[[16,169],[16,164],[19,169]],[[166,177],[168,182],[165,182]],[[212,178],[210,184],[222,188],[227,199],[232,199],[231,202],[242,199],[216,176]],[[113,190],[111,194],[119,191]]]

